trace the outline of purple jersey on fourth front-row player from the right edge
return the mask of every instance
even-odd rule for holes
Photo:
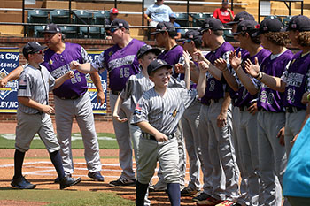
[[[221,47],[216,50],[210,51],[205,55],[205,58],[214,64],[218,58],[228,60],[229,53],[235,50],[229,42],[223,42]],[[224,79],[216,80],[210,72],[206,72],[206,87],[205,95],[201,98],[201,103],[208,103],[211,99],[221,99],[224,97],[226,82]]]

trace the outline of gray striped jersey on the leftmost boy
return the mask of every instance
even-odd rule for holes
[[[27,65],[19,76],[18,96],[29,97],[37,103],[49,103],[49,91],[54,87],[55,79],[45,66],[40,69]],[[39,110],[19,103],[19,110],[27,114],[36,114]]]

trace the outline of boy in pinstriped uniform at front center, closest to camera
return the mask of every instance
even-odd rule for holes
[[[157,161],[167,183],[171,205],[180,205],[179,155],[175,132],[183,112],[196,99],[197,91],[167,88],[171,68],[172,65],[164,60],[151,62],[148,74],[155,86],[140,98],[131,121],[143,131],[138,147],[136,205],[143,205]],[[190,68],[187,68],[187,88],[190,87],[189,72]]]

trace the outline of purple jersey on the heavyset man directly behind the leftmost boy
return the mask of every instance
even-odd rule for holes
[[[44,52],[44,65],[51,76],[55,79],[61,77],[70,70],[70,62],[78,61],[79,63],[89,62],[86,50],[79,44],[66,42],[66,48],[61,53],[55,53],[53,50]],[[85,74],[74,71],[74,78],[66,80],[60,87],[53,90],[54,95],[59,98],[70,99],[75,96],[83,95],[87,92],[87,80]]]

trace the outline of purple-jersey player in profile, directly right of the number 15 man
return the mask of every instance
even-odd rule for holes
[[[151,35],[155,35],[156,42],[159,47],[165,48],[165,50],[159,54],[159,59],[165,60],[169,65],[178,64],[180,61],[183,61],[183,48],[175,42],[176,30],[174,24],[171,22],[159,22],[156,26],[155,32],[152,32]],[[174,67],[173,67],[174,70]],[[177,78],[178,73],[175,72],[172,77]],[[179,79],[180,80],[180,79]],[[185,171],[186,171],[186,153],[185,145],[182,135],[182,125],[179,124],[177,130],[177,140],[179,144],[179,169],[180,169],[180,186],[181,188],[185,185]],[[165,190],[166,184],[164,184],[162,179],[162,172],[159,168],[158,172],[159,182],[154,185],[154,190]],[[151,189],[152,190],[152,189]]]

